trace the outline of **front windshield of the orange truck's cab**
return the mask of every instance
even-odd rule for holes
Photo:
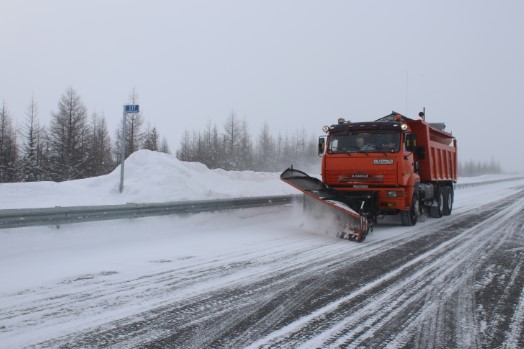
[[[394,153],[400,150],[400,132],[358,131],[331,134],[328,153]]]

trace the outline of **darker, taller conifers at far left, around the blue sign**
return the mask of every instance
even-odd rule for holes
[[[130,104],[136,104],[133,91]],[[141,113],[126,118],[127,158],[138,149],[169,153],[165,138],[156,127],[144,130]],[[88,116],[86,105],[72,88],[67,88],[52,112],[50,124],[40,125],[34,97],[25,112],[22,130],[16,130],[5,102],[0,108],[0,183],[66,181],[104,175],[121,161],[122,125],[114,142],[105,117]]]

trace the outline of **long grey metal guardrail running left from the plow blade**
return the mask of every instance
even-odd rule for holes
[[[0,229],[285,205],[302,195],[0,210]]]

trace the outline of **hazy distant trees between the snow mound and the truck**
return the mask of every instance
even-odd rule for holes
[[[320,173],[317,137],[304,129],[292,135],[273,135],[265,123],[253,138],[247,121],[234,112],[221,131],[208,122],[205,129],[185,131],[176,156],[182,161],[195,161],[210,169],[278,172],[290,165]]]

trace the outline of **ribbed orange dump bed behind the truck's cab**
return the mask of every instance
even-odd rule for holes
[[[443,124],[428,124],[423,120],[408,122],[416,134],[420,151],[415,153],[422,182],[457,180],[457,141],[444,131]]]

